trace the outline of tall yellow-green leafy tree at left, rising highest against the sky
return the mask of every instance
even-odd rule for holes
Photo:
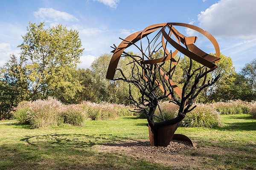
[[[82,55],[78,31],[67,30],[62,25],[44,29],[44,23],[29,23],[22,36],[20,62],[15,67],[23,70],[17,79],[26,81],[32,92],[32,100],[56,96],[63,102],[74,99],[73,91],[81,91],[78,81],[72,79]],[[9,69],[11,63],[6,64]]]

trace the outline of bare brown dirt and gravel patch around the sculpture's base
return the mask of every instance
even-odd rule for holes
[[[197,148],[189,142],[173,140],[167,147],[152,147],[149,140],[132,140],[115,144],[95,145],[100,152],[117,152],[126,156],[133,156],[136,159],[145,159],[150,162],[160,163],[165,166],[172,166],[173,169],[200,168],[204,161],[212,159],[202,156],[210,154],[226,154],[235,152],[230,149],[204,146]],[[187,154],[189,152],[189,154]]]

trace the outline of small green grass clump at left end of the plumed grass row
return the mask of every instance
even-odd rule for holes
[[[17,119],[19,124],[24,125],[29,123],[29,108],[20,108],[12,113],[14,119]]]

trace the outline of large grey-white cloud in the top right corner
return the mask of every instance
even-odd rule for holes
[[[200,27],[217,38],[256,38],[256,0],[220,0],[198,15]]]

